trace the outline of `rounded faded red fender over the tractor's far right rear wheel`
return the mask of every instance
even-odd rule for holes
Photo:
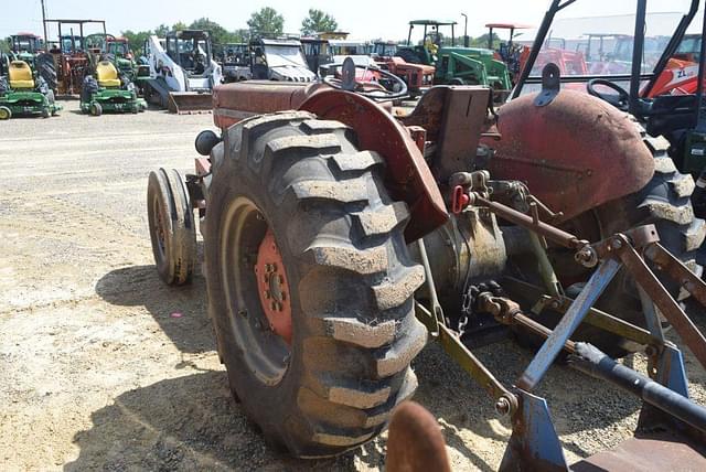
[[[563,89],[544,107],[536,94],[498,110],[500,141],[491,175],[525,182],[560,221],[641,190],[652,179],[654,159],[637,124],[606,101]]]

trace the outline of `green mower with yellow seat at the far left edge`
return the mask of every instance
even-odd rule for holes
[[[0,58],[0,120],[13,116],[54,116],[62,107],[46,82],[24,61]]]

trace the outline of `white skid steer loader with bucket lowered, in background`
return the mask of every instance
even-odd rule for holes
[[[211,109],[213,87],[223,82],[223,72],[213,58],[208,31],[173,31],[164,39],[152,35],[146,41],[145,55],[150,67],[149,78],[143,79],[148,103],[175,114]]]

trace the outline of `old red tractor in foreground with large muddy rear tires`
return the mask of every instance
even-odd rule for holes
[[[553,65],[496,112],[490,88],[439,86],[398,117],[351,67],[338,83],[216,87],[220,133],[196,138],[195,172],[149,178],[159,275],[191,280],[199,226],[218,354],[263,433],[302,458],[371,440],[436,339],[512,418],[504,470],[568,466],[537,394],[561,352],[644,398],[640,433],[653,441],[631,440],[643,460],[667,428],[672,465],[706,466],[706,409],[686,398],[657,314],[706,365],[706,339],[675,301],[706,303],[687,268],[698,271],[705,227],[665,141],[563,90]],[[504,385],[472,350],[510,334],[538,352]],[[646,375],[612,358],[633,350]]]

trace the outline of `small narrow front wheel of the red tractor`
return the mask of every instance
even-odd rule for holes
[[[150,173],[147,215],[159,277],[169,286],[189,283],[196,262],[196,228],[189,192],[175,170]]]

